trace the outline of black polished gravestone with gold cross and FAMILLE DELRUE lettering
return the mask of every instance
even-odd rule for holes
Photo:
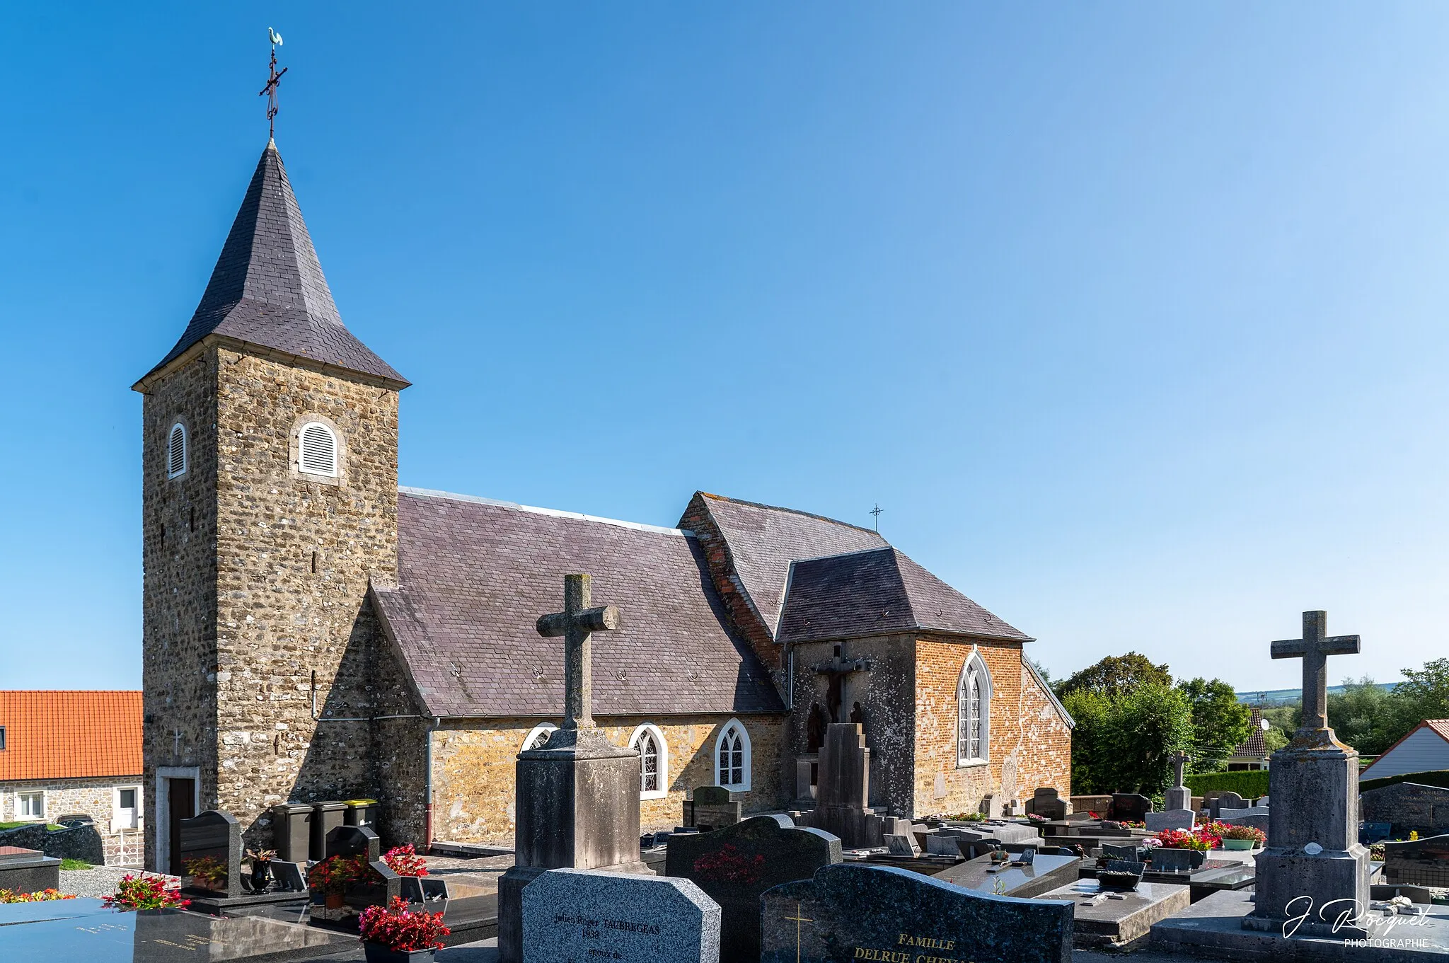
[[[1068,963],[1072,904],[994,896],[895,869],[839,863],[761,896],[761,963]]]

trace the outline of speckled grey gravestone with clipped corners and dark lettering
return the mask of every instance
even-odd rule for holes
[[[523,888],[523,963],[719,963],[720,908],[688,879],[551,869]]]

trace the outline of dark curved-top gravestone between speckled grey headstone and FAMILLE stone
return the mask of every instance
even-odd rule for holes
[[[671,836],[664,875],[694,882],[720,905],[720,959],[759,959],[759,895],[843,859],[840,840],[756,815],[713,833]]]

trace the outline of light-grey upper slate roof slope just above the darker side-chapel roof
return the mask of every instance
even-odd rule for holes
[[[780,627],[791,562],[887,544],[869,529],[806,511],[709,492],[700,492],[698,498],[729,544],[746,601],[771,636]]]

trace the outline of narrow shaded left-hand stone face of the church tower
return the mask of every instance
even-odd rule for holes
[[[158,766],[216,768],[216,352],[172,369],[142,403],[142,760],[146,853]],[[167,478],[171,426],[187,471]],[[107,817],[109,818],[109,817]]]

